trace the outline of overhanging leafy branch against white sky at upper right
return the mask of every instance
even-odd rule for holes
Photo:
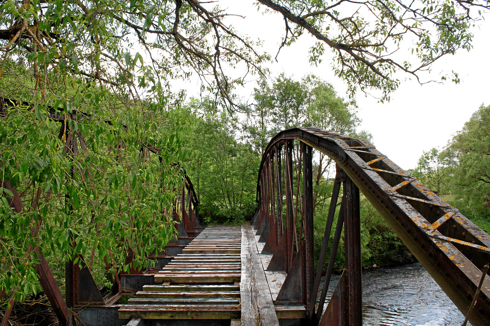
[[[333,53],[332,68],[348,84],[351,95],[357,91],[381,89],[381,101],[400,85],[395,72],[417,78],[421,71],[447,54],[471,49],[469,29],[489,2],[421,0],[414,1],[287,1],[258,0],[266,11],[284,17],[284,45],[293,44],[308,33],[318,42],[310,48],[312,64],[321,62],[326,51]],[[393,54],[402,41],[412,41],[417,64],[399,60]],[[279,50],[280,50],[279,48]],[[446,76],[442,76],[445,80]],[[459,83],[457,73],[452,80]]]

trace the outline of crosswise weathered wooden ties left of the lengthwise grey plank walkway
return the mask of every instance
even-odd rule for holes
[[[119,309],[120,319],[240,320],[241,226],[208,226]],[[232,322],[232,325],[235,324]]]

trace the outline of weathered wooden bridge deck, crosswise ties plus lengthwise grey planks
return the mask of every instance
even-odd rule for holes
[[[300,323],[304,307],[274,307],[286,273],[265,271],[270,255],[259,254],[264,243],[255,233],[250,225],[207,227],[155,274],[155,283],[162,284],[145,285],[120,305],[119,318],[161,320],[162,325],[164,320],[200,320],[199,325],[221,320],[232,326],[278,326],[282,319],[288,325]]]

